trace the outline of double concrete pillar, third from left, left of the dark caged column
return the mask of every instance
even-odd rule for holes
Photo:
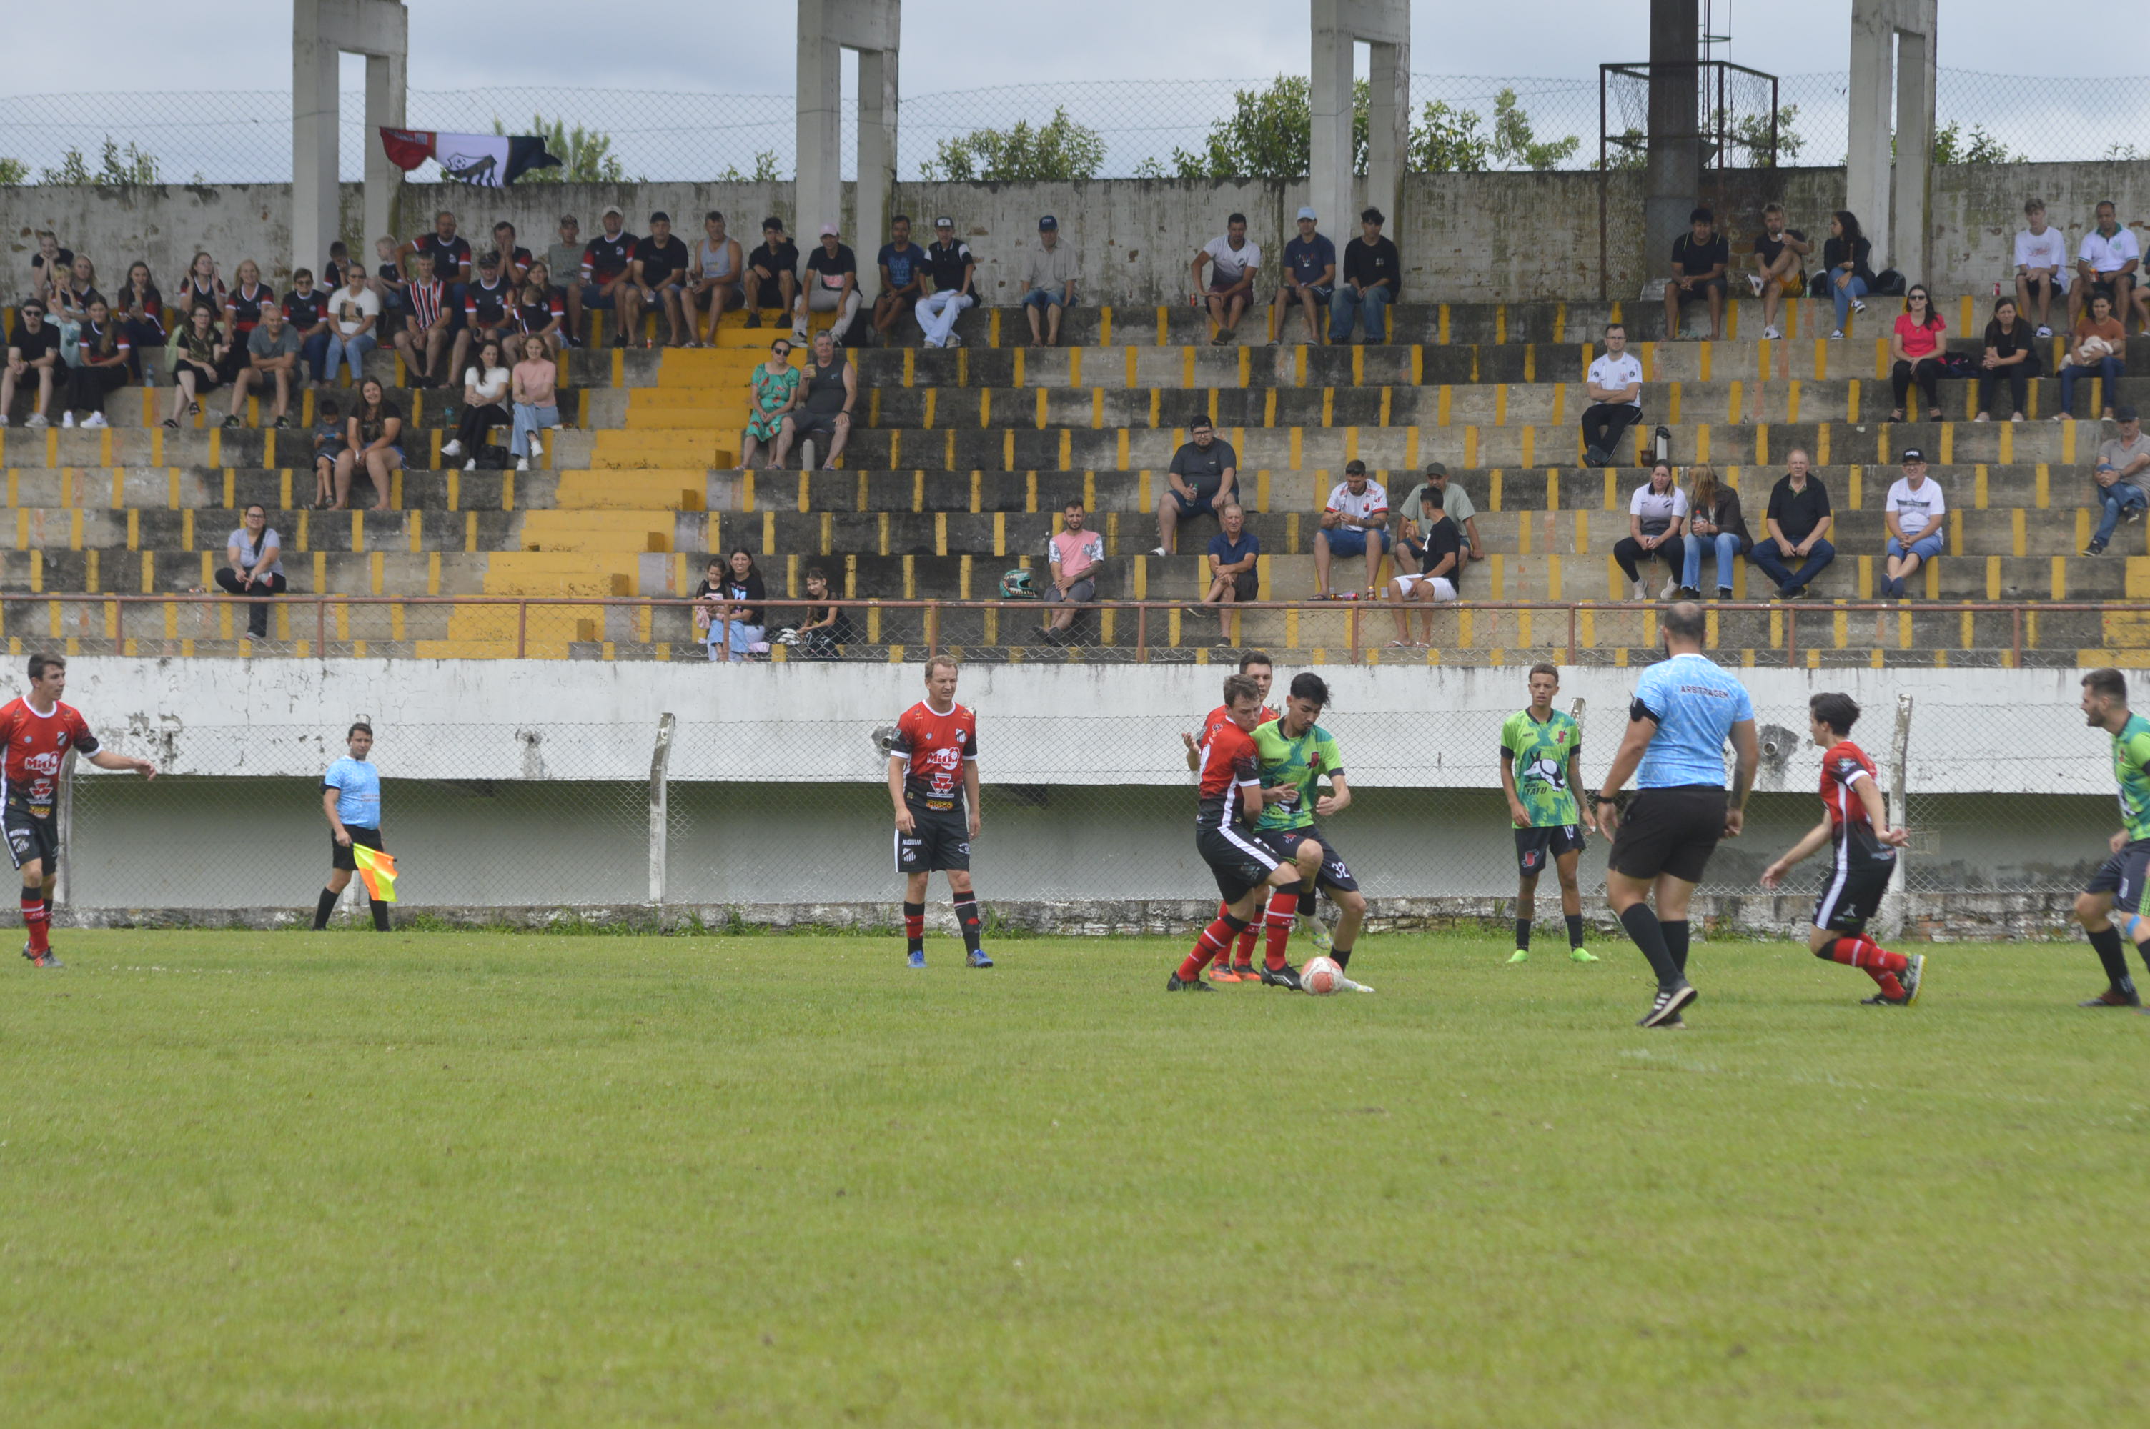
[[[1410,0],[1312,0],[1314,153],[1307,187],[1322,232],[1344,249],[1359,232],[1352,202],[1352,49],[1372,52],[1365,200],[1402,230],[1404,163],[1410,155]]]

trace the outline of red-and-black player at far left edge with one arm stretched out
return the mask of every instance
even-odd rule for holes
[[[0,827],[6,851],[22,872],[22,926],[30,935],[22,956],[34,967],[58,967],[52,954],[52,881],[60,877],[60,832],[54,804],[60,797],[60,763],[67,750],[99,769],[135,769],[157,778],[157,765],[97,746],[97,735],[67,694],[67,662],[30,655],[30,692],[0,707]]]

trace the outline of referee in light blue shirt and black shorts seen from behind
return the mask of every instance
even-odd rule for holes
[[[1606,896],[1649,967],[1658,997],[1638,1025],[1677,1027],[1679,1010],[1694,1001],[1688,982],[1688,898],[1718,838],[1737,838],[1761,744],[1754,739],[1754,701],[1726,670],[1703,658],[1707,617],[1694,602],[1679,602],[1660,619],[1666,658],[1643,673],[1628,707],[1621,739],[1597,791],[1597,827],[1612,840],[1606,860]],[[1724,793],[1724,741],[1737,767]],[[1612,795],[1634,776],[1636,795],[1621,819]],[[1651,887],[1658,911],[1649,909]]]

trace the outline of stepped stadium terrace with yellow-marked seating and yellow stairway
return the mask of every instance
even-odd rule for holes
[[[1890,309],[1883,314],[1883,309]],[[1972,299],[1944,303],[1952,333],[1982,331]],[[720,346],[641,352],[591,346],[561,363],[563,415],[529,473],[454,471],[439,447],[460,391],[398,391],[415,432],[411,468],[385,514],[301,509],[312,496],[312,400],[292,430],[215,430],[224,404],[178,432],[157,425],[168,389],[112,398],[108,430],[0,432],[13,542],[0,550],[0,634],[11,651],[64,640],[95,653],[144,655],[424,655],[703,660],[679,606],[574,604],[615,595],[684,595],[707,550],[757,552],[772,604],[804,593],[823,565],[849,600],[989,600],[1004,569],[1043,569],[1060,505],[1081,496],[1109,552],[1101,597],[1200,595],[1208,524],[1189,529],[1176,559],[1146,557],[1163,468],[1195,415],[1238,449],[1241,490],[1260,533],[1262,600],[1314,589],[1314,514],[1359,458],[1400,499],[1428,460],[1449,464],[1479,507],[1488,559],[1464,578],[1477,602],[1604,602],[1625,595],[1610,559],[1628,531],[1630,464],[1580,466],[1576,415],[1582,374],[1610,318],[1640,355],[1649,432],[1671,428],[1686,466],[1709,460],[1742,492],[1761,531],[1761,505],[1784,453],[1812,453],[1838,514],[1838,561],[1819,600],[1724,610],[1711,638],[1726,658],[1800,664],[2144,664],[2139,615],[2032,608],[1931,610],[1924,602],[2101,602],[2150,597],[2150,522],[2122,526],[2105,557],[2077,554],[2092,529],[2086,458],[2096,421],[2053,423],[2058,382],[2034,382],[2032,421],[1972,423],[1974,382],[1944,385],[1948,421],[1888,415],[1881,301],[1845,342],[1825,342],[1830,309],[1791,303],[1787,337],[1759,340],[1752,301],[1731,305],[1724,342],[1662,342],[1658,303],[1404,303],[1389,346],[1208,346],[1187,307],[1086,307],[1069,314],[1064,346],[1023,346],[1013,309],[970,312],[963,346],[920,350],[901,322],[899,348],[864,348],[860,423],[843,471],[735,471],[746,380],[783,329],[746,329],[733,314]],[[826,318],[817,318],[817,327]],[[1258,331],[1258,322],[1249,322]],[[602,329],[593,333],[602,337]],[[1976,340],[1952,348],[1974,350]],[[2055,367],[2045,352],[2047,374]],[[802,359],[804,355],[800,355]],[[2133,337],[2131,372],[2150,372],[2150,340]],[[391,352],[374,372],[398,376]],[[166,378],[168,380],[168,378]],[[2096,413],[2096,382],[2079,410]],[[2126,400],[2150,380],[2122,378]],[[260,402],[254,404],[256,410]],[[1924,602],[1845,610],[1877,589],[1881,501],[1894,460],[1918,445],[1948,494],[1948,546],[1926,565]],[[393,604],[277,608],[267,643],[245,640],[236,602],[133,606],[54,602],[60,593],[174,593],[209,587],[224,539],[252,501],[284,535],[295,595],[396,597]],[[359,494],[355,494],[359,501]],[[1354,565],[1354,563],[1352,563]],[[1348,567],[1346,567],[1348,569]],[[1705,576],[1714,559],[1705,563]],[[1767,595],[1739,565],[1735,593]],[[424,604],[434,595],[563,600],[520,612]],[[785,623],[772,610],[772,625]],[[869,608],[849,658],[916,660],[924,643],[970,660],[1191,660],[1213,651],[1215,619],[1152,610],[1094,612],[1086,645],[1036,643],[1028,610]],[[1393,634],[1378,606],[1245,610],[1238,640],[1294,662],[1380,660],[1503,664],[1542,658],[1640,662],[1656,649],[1649,606],[1582,610],[1447,610],[1434,651],[1380,649]],[[1357,634],[1354,634],[1357,632]],[[1574,645],[1570,645],[1574,643]],[[783,658],[778,651],[776,658]]]

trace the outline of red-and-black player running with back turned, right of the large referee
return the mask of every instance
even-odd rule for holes
[[[1828,750],[1821,756],[1821,806],[1828,812],[1806,838],[1763,870],[1761,883],[1776,887],[1793,864],[1821,845],[1832,845],[1836,853],[1821,877],[1815,928],[1806,946],[1817,958],[1864,969],[1881,988],[1866,999],[1870,1006],[1909,1008],[1918,1001],[1926,958],[1890,952],[1866,937],[1866,920],[1881,907],[1881,894],[1896,872],[1896,849],[1909,834],[1890,827],[1881,789],[1875,784],[1875,761],[1851,744],[1851,726],[1860,718],[1851,696],[1817,694],[1806,709],[1815,744]]]

